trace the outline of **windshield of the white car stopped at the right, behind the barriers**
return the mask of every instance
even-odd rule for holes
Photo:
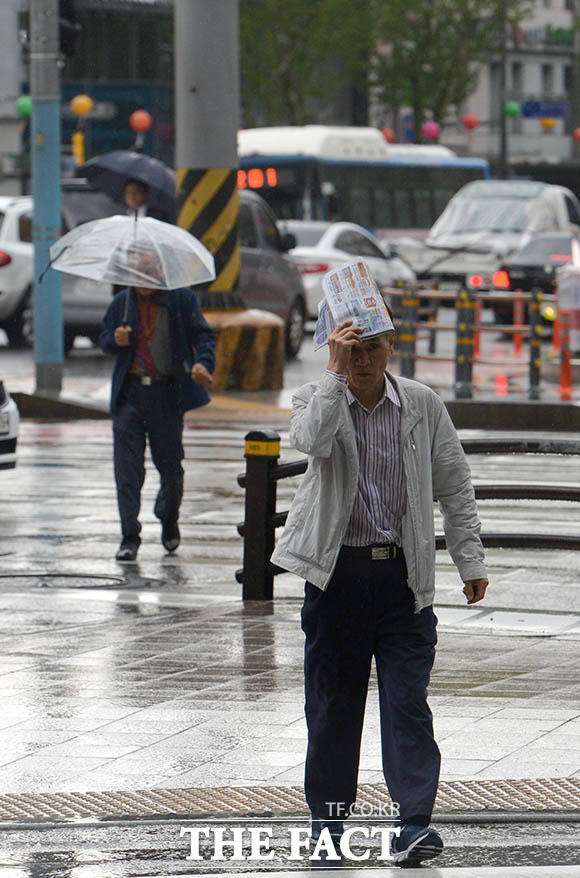
[[[535,198],[457,198],[443,211],[430,237],[551,231],[557,227],[550,205]]]

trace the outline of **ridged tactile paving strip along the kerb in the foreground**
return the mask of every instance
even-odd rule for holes
[[[388,814],[380,784],[361,784],[357,813]],[[580,779],[442,781],[436,813],[470,811],[571,811],[580,809]],[[66,821],[92,818],[285,817],[306,815],[301,787],[213,787],[102,793],[6,793],[0,821]]]

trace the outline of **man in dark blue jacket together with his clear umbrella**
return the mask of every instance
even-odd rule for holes
[[[149,217],[85,223],[51,247],[51,267],[123,285],[103,320],[99,344],[116,357],[111,386],[113,455],[121,518],[117,561],[141,544],[147,441],[160,476],[154,512],[168,552],[179,546],[183,413],[209,402],[215,336],[193,290],[215,278],[208,250],[184,229]]]

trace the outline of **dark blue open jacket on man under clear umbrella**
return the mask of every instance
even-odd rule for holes
[[[127,324],[132,328],[131,344],[119,347],[115,343],[115,329],[123,324],[125,300],[129,296]],[[209,372],[215,368],[215,335],[205,321],[197,296],[192,290],[158,290],[155,302],[169,309],[169,325],[173,353],[172,374],[175,377],[181,411],[198,408],[209,402],[209,393],[201,384],[191,379],[194,363],[202,363]],[[119,397],[129,373],[137,343],[139,309],[133,288],[117,293],[103,318],[103,331],[99,345],[106,354],[115,354],[115,368],[111,385],[111,411],[118,410]]]

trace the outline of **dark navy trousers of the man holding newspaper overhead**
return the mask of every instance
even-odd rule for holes
[[[429,822],[440,766],[427,704],[436,624],[432,607],[414,612],[402,556],[372,561],[343,547],[326,591],[306,583],[302,609],[308,725],[305,794],[316,816],[346,816],[356,800],[374,656],[389,794],[399,804],[403,822],[416,822],[419,817]],[[338,813],[336,803],[342,803]]]

